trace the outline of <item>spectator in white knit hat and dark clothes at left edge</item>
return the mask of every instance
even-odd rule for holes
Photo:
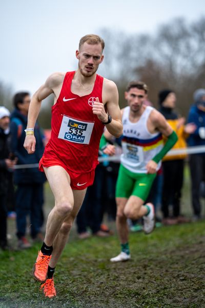
[[[7,243],[7,198],[9,170],[14,168],[16,159],[10,159],[8,145],[10,112],[0,107],[0,247],[8,248]]]

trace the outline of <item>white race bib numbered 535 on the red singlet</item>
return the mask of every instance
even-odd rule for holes
[[[89,144],[94,122],[75,120],[64,115],[58,138],[70,142]]]

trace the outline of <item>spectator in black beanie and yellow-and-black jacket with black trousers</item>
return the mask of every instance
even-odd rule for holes
[[[191,123],[185,125],[185,118],[179,117],[179,115],[174,111],[176,104],[176,95],[174,91],[165,89],[160,91],[158,96],[160,106],[159,111],[163,114],[178,137],[173,149],[186,148],[186,138],[189,136],[189,133],[195,131],[196,126]],[[165,156],[162,160],[162,222],[164,224],[175,224],[189,221],[186,217],[181,216],[180,213],[185,158],[186,154],[176,154]],[[172,214],[170,214],[169,205],[172,205]]]

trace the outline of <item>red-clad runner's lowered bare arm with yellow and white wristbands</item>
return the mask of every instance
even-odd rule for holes
[[[28,128],[34,128],[42,100],[46,99],[51,93],[55,94],[55,91],[62,80],[62,73],[53,73],[46,80],[45,84],[33,94],[28,112]],[[35,151],[35,143],[36,141],[34,135],[28,134],[25,138],[24,147],[29,154],[32,154]]]

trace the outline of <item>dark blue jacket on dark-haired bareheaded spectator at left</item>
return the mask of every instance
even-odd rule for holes
[[[25,141],[25,129],[27,127],[27,117],[20,113],[18,109],[14,109],[11,114],[11,151],[18,158],[17,165],[36,164],[43,156],[44,136],[40,131],[38,124],[35,125],[34,133],[36,138],[36,147],[33,154],[28,154],[24,148]],[[38,167],[36,168],[24,168],[16,169],[14,171],[14,183],[44,183],[44,172],[40,172]]]

